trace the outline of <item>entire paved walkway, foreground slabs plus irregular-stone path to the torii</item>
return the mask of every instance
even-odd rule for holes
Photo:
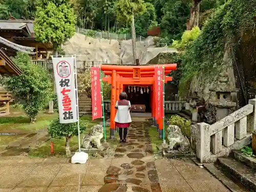
[[[0,158],[0,192],[228,192],[190,160],[155,159],[146,122],[134,122],[115,157],[71,164],[68,158]]]

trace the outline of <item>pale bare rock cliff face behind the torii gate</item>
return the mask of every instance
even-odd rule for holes
[[[66,55],[77,55],[78,68],[101,63],[115,65],[133,65],[132,40],[109,40],[88,37],[76,33],[62,46]],[[140,65],[146,65],[161,52],[173,52],[174,49],[154,46],[153,37],[136,42],[137,57]]]

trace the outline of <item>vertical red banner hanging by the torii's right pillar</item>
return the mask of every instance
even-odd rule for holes
[[[163,68],[155,67],[155,117],[163,118]]]

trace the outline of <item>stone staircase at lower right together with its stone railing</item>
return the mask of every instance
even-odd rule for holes
[[[230,191],[256,192],[256,159],[240,152],[251,143],[255,129],[256,99],[214,124],[191,126],[199,163]]]

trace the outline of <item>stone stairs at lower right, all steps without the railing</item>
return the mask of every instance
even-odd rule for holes
[[[239,150],[204,167],[232,192],[256,191],[256,159]]]

